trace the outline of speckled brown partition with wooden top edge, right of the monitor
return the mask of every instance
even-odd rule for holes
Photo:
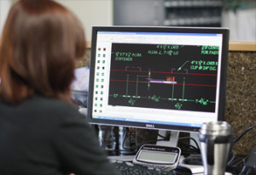
[[[237,138],[248,127],[256,125],[256,43],[233,42],[230,48],[224,118]],[[233,150],[247,155],[256,145],[255,133],[254,127]]]

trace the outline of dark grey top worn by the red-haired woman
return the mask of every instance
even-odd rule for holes
[[[0,102],[1,175],[114,175],[85,117],[71,104],[34,96]]]

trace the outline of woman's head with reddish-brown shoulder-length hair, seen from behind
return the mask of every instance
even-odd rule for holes
[[[51,0],[20,0],[0,42],[0,96],[20,103],[34,93],[69,99],[75,59],[84,54],[79,20]]]

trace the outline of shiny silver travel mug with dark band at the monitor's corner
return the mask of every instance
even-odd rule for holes
[[[231,150],[232,128],[225,121],[203,123],[199,133],[205,175],[224,175]]]

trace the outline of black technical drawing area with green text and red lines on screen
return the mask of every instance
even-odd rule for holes
[[[108,104],[214,112],[218,49],[113,43]]]

